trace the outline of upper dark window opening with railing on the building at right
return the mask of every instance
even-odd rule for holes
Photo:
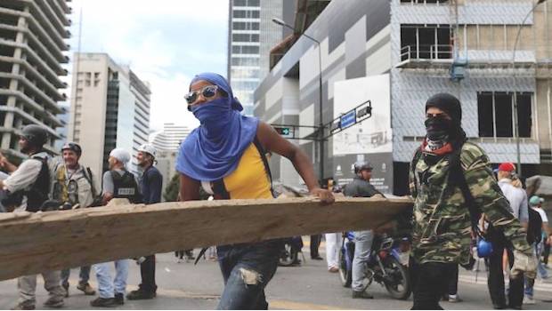
[[[450,25],[401,25],[402,60],[452,58]]]

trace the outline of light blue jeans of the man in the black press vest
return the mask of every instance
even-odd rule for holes
[[[98,291],[101,298],[113,298],[116,293],[125,294],[126,278],[128,277],[128,259],[116,260],[115,280],[111,281],[112,262],[104,262],[93,265],[98,280]]]

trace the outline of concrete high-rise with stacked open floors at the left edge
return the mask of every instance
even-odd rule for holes
[[[0,148],[22,157],[18,147],[20,128],[44,126],[50,133],[45,148],[53,148],[62,126],[59,91],[67,87],[60,76],[68,72],[68,19],[65,0],[0,1]]]

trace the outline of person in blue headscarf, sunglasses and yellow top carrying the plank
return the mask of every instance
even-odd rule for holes
[[[215,199],[272,198],[267,152],[286,156],[312,195],[334,201],[330,191],[318,186],[313,164],[301,149],[270,125],[239,114],[243,108],[223,76],[195,76],[185,99],[200,125],[183,141],[176,163],[182,201],[199,200],[199,187]],[[279,239],[218,246],[224,279],[218,308],[268,308],[264,288],[276,272],[280,248]]]

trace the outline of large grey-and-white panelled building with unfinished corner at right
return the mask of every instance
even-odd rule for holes
[[[346,183],[352,164],[368,160],[377,187],[406,193],[436,92],[461,100],[468,139],[492,163],[519,157],[525,177],[552,175],[552,3],[332,0],[321,12],[297,3],[296,32],[272,50],[255,115],[286,125],[324,178]],[[272,166],[275,179],[300,183],[285,159]]]

